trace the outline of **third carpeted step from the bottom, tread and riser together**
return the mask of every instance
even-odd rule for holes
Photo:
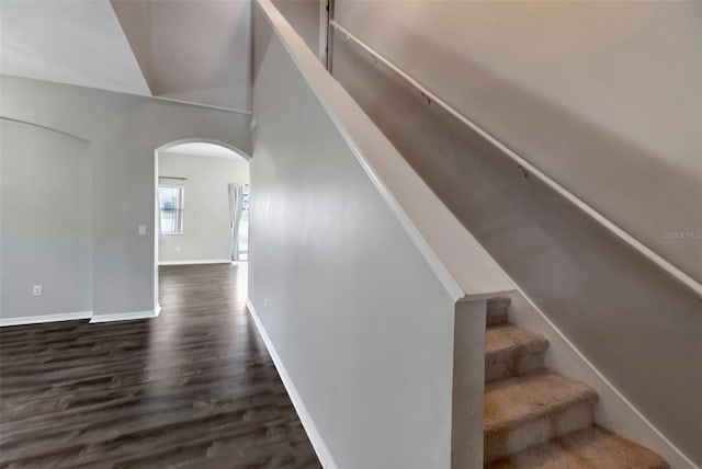
[[[507,323],[490,325],[485,336],[485,382],[542,368],[547,347],[543,335]]]

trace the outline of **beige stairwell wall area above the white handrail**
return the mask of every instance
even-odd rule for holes
[[[702,2],[338,0],[336,19],[702,282]]]

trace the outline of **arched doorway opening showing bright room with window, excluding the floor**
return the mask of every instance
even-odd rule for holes
[[[188,139],[155,151],[154,301],[159,267],[249,259],[249,159],[230,145]]]

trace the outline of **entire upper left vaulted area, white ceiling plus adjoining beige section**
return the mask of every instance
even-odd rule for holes
[[[0,71],[250,108],[248,0],[1,0]]]

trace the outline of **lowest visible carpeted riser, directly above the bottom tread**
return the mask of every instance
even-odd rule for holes
[[[579,402],[557,413],[522,422],[485,435],[485,462],[521,451],[592,425],[595,401]]]

